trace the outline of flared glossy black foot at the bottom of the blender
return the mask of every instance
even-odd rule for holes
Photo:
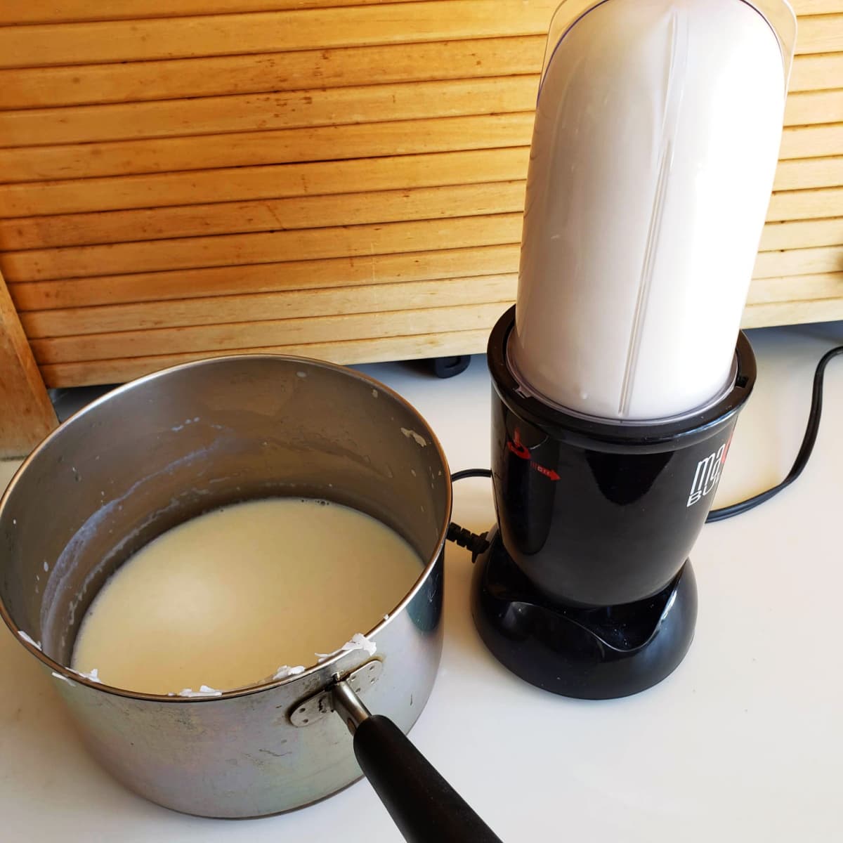
[[[481,638],[514,674],[554,694],[608,700],[661,682],[694,637],[690,561],[646,600],[599,609],[553,603],[529,583],[497,529],[477,559],[471,613]]]

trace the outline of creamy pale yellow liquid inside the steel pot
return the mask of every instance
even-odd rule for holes
[[[372,629],[421,570],[405,540],[349,507],[224,507],[159,536],[110,577],[72,667],[149,694],[253,685]]]

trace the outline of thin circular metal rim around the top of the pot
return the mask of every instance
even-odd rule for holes
[[[87,415],[89,412],[95,411],[100,405],[103,405],[107,401],[112,400],[117,395],[121,395],[122,393],[128,392],[131,389],[136,389],[142,384],[147,384],[148,382],[157,380],[159,378],[163,378],[164,376],[169,375],[171,373],[185,371],[191,368],[200,368],[208,365],[214,365],[216,363],[221,362],[242,362],[244,360],[285,361],[303,364],[315,368],[330,369],[334,372],[341,373],[343,375],[352,377],[353,379],[362,381],[362,383],[370,385],[373,389],[378,389],[379,392],[383,392],[385,395],[389,395],[390,398],[397,401],[400,405],[403,405],[405,410],[410,411],[414,416],[419,419],[419,421],[421,421],[421,424],[424,428],[424,432],[429,438],[429,444],[433,448],[435,448],[436,453],[438,454],[438,457],[442,462],[443,474],[445,477],[445,518],[443,526],[439,529],[436,545],[434,547],[434,550],[432,550],[432,553],[430,554],[429,558],[427,559],[427,562],[425,563],[421,574],[416,579],[416,582],[413,583],[410,590],[405,593],[404,597],[400,600],[400,602],[396,604],[395,607],[391,609],[389,613],[387,613],[387,615],[385,615],[383,620],[380,620],[376,626],[373,626],[371,630],[364,633],[367,638],[374,637],[379,633],[379,631],[382,631],[386,626],[389,625],[389,623],[392,622],[395,615],[400,614],[400,612],[403,612],[406,609],[406,607],[410,604],[411,600],[421,590],[421,587],[427,581],[427,577],[431,575],[434,567],[437,565],[439,557],[442,555],[442,551],[445,546],[445,540],[448,534],[448,525],[450,524],[451,520],[451,513],[454,504],[453,486],[451,484],[450,469],[448,468],[448,458],[445,456],[442,443],[439,442],[436,433],[433,432],[432,427],[427,423],[427,419],[425,419],[424,416],[422,416],[421,413],[417,411],[416,408],[411,405],[408,400],[406,400],[402,395],[399,395],[397,392],[395,392],[394,389],[391,389],[389,386],[382,384],[379,380],[374,379],[367,374],[357,372],[347,366],[342,366],[340,363],[319,360],[316,357],[299,357],[298,355],[291,354],[225,354],[219,357],[201,357],[199,360],[191,360],[190,362],[179,363],[176,366],[169,366],[167,368],[158,369],[155,372],[151,372],[149,374],[142,375],[142,377],[140,378],[128,381],[126,384],[121,384],[115,389],[111,389],[109,392],[105,393],[105,395],[100,395],[99,398],[91,401],[90,404],[85,405],[81,410],[78,410],[77,412],[73,413],[72,416],[69,416],[67,419],[65,419],[65,421],[62,421],[62,423],[58,427],[56,427],[54,431],[47,434],[47,436],[42,439],[41,442],[38,443],[38,445],[35,446],[35,448],[30,452],[26,459],[24,459],[23,463],[20,464],[18,470],[15,471],[12,480],[9,481],[8,486],[6,487],[6,490],[3,491],[2,495],[0,495],[0,522],[3,521],[3,511],[7,506],[8,499],[13,495],[14,487],[18,485],[20,478],[24,475],[24,472],[27,470],[30,464],[35,462],[35,459],[38,459],[38,455],[40,454],[40,452],[43,451],[47,447],[47,445],[51,443],[54,439],[62,435],[62,432],[65,430],[65,428],[69,427],[72,422],[76,421],[78,418]],[[269,681],[262,682],[257,685],[246,685],[243,688],[223,690],[222,693],[216,695],[170,696],[166,694],[147,694],[142,691],[126,690],[124,688],[117,688],[114,685],[106,685],[104,682],[94,681],[92,679],[89,679],[87,676],[78,674],[75,670],[72,670],[72,668],[68,668],[66,665],[56,662],[53,658],[47,656],[45,652],[42,652],[40,647],[37,647],[34,643],[30,643],[29,641],[21,637],[20,633],[22,632],[22,630],[20,630],[19,627],[12,620],[12,617],[11,615],[9,615],[8,609],[6,609],[6,604],[4,603],[2,598],[0,598],[0,617],[3,618],[6,623],[6,626],[8,626],[9,631],[12,632],[13,636],[19,642],[19,644],[25,649],[27,649],[33,656],[35,656],[35,658],[38,658],[39,661],[43,663],[47,668],[50,668],[52,673],[56,675],[57,678],[66,680],[68,682],[71,682],[72,684],[86,685],[89,688],[103,691],[106,694],[129,697],[134,700],[145,700],[153,702],[173,702],[180,704],[189,704],[197,702],[217,702],[223,700],[230,700],[234,699],[235,697],[257,694],[266,690],[274,690],[276,688],[282,687],[283,685],[293,685],[299,680],[307,679],[321,672],[325,672],[328,680],[330,681],[330,676],[333,673],[330,668],[332,668],[334,665],[336,665],[336,663],[341,661],[342,658],[345,658],[346,656],[350,655],[352,652],[357,652],[354,650],[337,650],[330,656],[330,658],[326,658],[324,662],[305,666],[304,670],[299,674],[288,675],[283,677],[282,679],[271,679]],[[325,684],[327,684],[327,682]]]

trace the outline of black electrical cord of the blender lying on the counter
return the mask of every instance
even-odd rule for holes
[[[802,444],[799,446],[796,459],[793,461],[791,470],[787,472],[787,477],[771,489],[761,491],[757,495],[747,498],[745,501],[733,503],[728,507],[721,507],[720,509],[712,509],[708,513],[706,524],[725,521],[726,518],[733,518],[735,515],[749,512],[750,509],[754,509],[754,507],[759,506],[761,503],[769,501],[771,497],[775,497],[780,491],[787,489],[787,486],[790,486],[802,474],[805,466],[808,464],[808,459],[811,457],[813,445],[816,443],[817,434],[819,433],[819,419],[823,413],[825,368],[831,360],[840,354],[843,354],[843,346],[832,348],[817,363],[817,368],[813,373],[813,390],[811,393],[811,409],[808,411],[808,424],[805,427],[805,435],[803,436]],[[491,471],[488,469],[454,471],[454,474],[451,475],[451,481],[455,483],[458,480],[465,480],[468,477],[491,477]],[[475,557],[489,546],[489,542],[486,540],[486,533],[480,535],[472,533],[470,530],[460,527],[459,524],[454,524],[453,521],[448,527],[448,540],[470,550]]]

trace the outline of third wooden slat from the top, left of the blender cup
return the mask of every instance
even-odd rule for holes
[[[544,36],[526,35],[117,65],[16,68],[0,70],[0,109],[255,94],[315,84],[346,88],[513,76],[540,72],[544,51]],[[836,65],[827,64],[807,68],[811,70],[810,89],[828,87],[820,81]],[[796,71],[794,74],[799,77]]]

